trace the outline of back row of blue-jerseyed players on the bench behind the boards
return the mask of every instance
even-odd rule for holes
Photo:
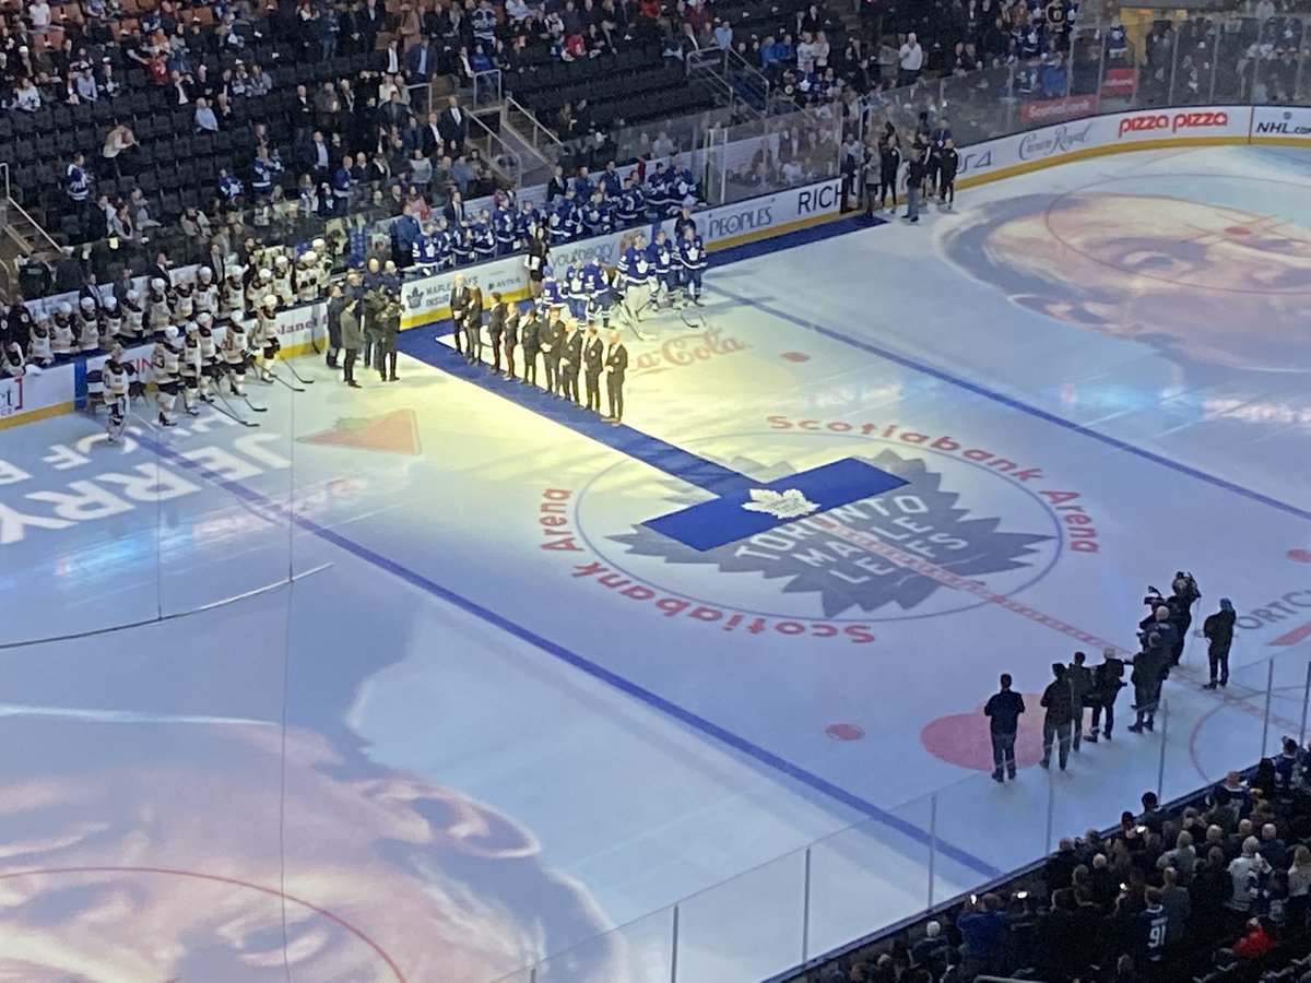
[[[496,208],[482,208],[473,219],[426,222],[410,242],[410,258],[423,273],[450,270],[522,252],[539,235],[544,235],[549,245],[560,246],[675,215],[686,219],[691,215],[688,201],[679,199],[669,207],[661,204],[653,211],[636,176],[624,181],[616,198],[602,189],[579,198],[570,185],[543,208],[532,202],[515,208],[511,202],[502,201]]]

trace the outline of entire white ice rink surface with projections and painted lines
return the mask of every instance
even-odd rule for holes
[[[1251,764],[1272,665],[1268,746],[1304,712],[1307,201],[1307,156],[1143,152],[735,253],[628,339],[623,427],[416,329],[258,427],[4,431],[0,975],[645,983],[687,899],[678,978],[755,980],[808,862],[817,954]],[[846,459],[905,484],[644,524]],[[1034,767],[1049,665],[1176,569],[1240,613],[1228,691],[1194,638],[1167,725]]]

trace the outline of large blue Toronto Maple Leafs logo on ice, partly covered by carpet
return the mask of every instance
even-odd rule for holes
[[[785,581],[783,590],[787,594],[818,595],[825,617],[836,617],[852,608],[873,612],[890,604],[911,611],[947,588],[940,579],[911,570],[861,543],[877,540],[956,577],[983,578],[1032,566],[1038,545],[1053,539],[1003,532],[999,518],[971,516],[969,509],[958,503],[960,493],[945,490],[943,476],[929,471],[922,460],[905,459],[891,451],[863,460],[907,484],[704,552],[645,526],[635,526],[632,532],[611,539],[637,556]],[[762,484],[796,472],[787,464],[766,468],[743,459],[732,461],[730,467]],[[696,493],[675,493],[669,498],[678,505],[701,501]],[[834,523],[840,528],[835,531]]]

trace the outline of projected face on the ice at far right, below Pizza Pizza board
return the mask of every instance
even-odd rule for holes
[[[1181,360],[1311,371],[1311,229],[1145,194],[988,202],[948,258],[1009,299]]]

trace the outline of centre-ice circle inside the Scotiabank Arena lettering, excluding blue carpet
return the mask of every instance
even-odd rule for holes
[[[729,448],[750,447],[750,456]],[[988,603],[953,588],[968,579],[1007,596],[1041,579],[1061,554],[1049,505],[1007,469],[873,436],[755,433],[684,446],[764,482],[844,457],[906,481],[891,492],[696,550],[642,523],[707,499],[623,461],[576,498],[576,522],[607,568],[696,603],[783,619],[876,623],[935,617]],[[1007,463],[1009,464],[1009,463]],[[1011,468],[1015,465],[1011,464]],[[911,570],[914,557],[936,573]]]

